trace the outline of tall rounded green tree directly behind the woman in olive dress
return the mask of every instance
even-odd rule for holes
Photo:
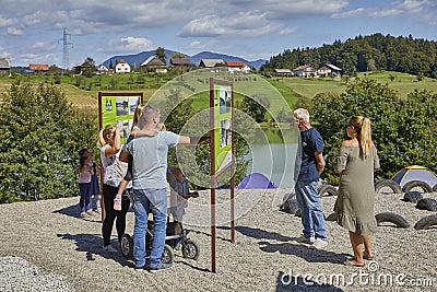
[[[378,149],[381,172],[379,178],[390,178],[405,166],[400,155],[399,143],[403,139],[399,130],[409,125],[399,125],[401,102],[399,93],[376,80],[363,79],[350,82],[341,95],[323,93],[315,96],[310,106],[312,125],[324,138],[327,167],[324,178],[336,184],[339,176],[333,172],[339,147],[346,137],[346,121],[352,116],[365,116],[371,121],[373,139]]]

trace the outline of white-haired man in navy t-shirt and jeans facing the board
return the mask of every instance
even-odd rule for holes
[[[323,139],[309,124],[307,109],[294,110],[294,121],[300,131],[296,153],[295,191],[304,225],[304,234],[296,241],[321,249],[328,245],[323,211],[317,191],[319,176],[324,168]]]

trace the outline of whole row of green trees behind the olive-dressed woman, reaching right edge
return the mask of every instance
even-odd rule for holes
[[[406,100],[388,84],[356,79],[342,94],[320,93],[311,101],[300,100],[311,124],[324,138],[327,167],[323,178],[336,185],[333,165],[340,143],[347,139],[346,121],[352,116],[368,117],[381,168],[377,179],[391,178],[408,165],[422,165],[437,173],[437,95],[412,91]]]

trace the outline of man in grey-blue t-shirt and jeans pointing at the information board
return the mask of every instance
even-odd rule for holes
[[[135,212],[133,227],[133,258],[137,269],[151,272],[172,268],[161,261],[167,227],[167,153],[177,144],[197,144],[208,138],[179,136],[170,131],[160,131],[161,113],[152,105],[143,108],[139,130],[125,144],[120,161],[128,162],[132,155],[132,190]],[[153,245],[150,262],[145,262],[145,232],[149,210],[153,213]]]

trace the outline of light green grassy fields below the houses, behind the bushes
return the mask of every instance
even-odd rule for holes
[[[92,112],[97,109],[98,91],[105,92],[143,92],[145,101],[153,96],[155,102],[163,102],[177,90],[185,97],[193,100],[193,106],[200,110],[209,107],[209,79],[232,80],[236,98],[247,95],[264,95],[270,100],[270,110],[277,114],[285,106],[293,106],[298,98],[312,98],[316,94],[331,92],[340,94],[345,91],[346,84],[340,79],[303,79],[303,78],[271,78],[263,79],[260,75],[228,74],[225,71],[211,72],[210,70],[197,70],[169,80],[165,75],[156,74],[120,74],[102,75],[93,78],[67,77],[60,78],[60,86],[69,102],[79,109]],[[378,82],[388,84],[399,92],[399,96],[406,95],[417,90],[427,90],[437,94],[437,80],[425,78],[417,82],[415,75],[399,72],[366,72],[359,73],[358,78],[376,79]],[[392,78],[392,81],[391,81]],[[32,75],[20,77],[21,80],[35,84],[39,82],[55,82],[55,77]],[[8,75],[0,77],[0,93],[5,92],[12,82]],[[98,86],[97,86],[98,85]],[[116,90],[111,90],[116,87]],[[158,89],[160,87],[160,89]],[[158,90],[157,90],[158,89]]]

